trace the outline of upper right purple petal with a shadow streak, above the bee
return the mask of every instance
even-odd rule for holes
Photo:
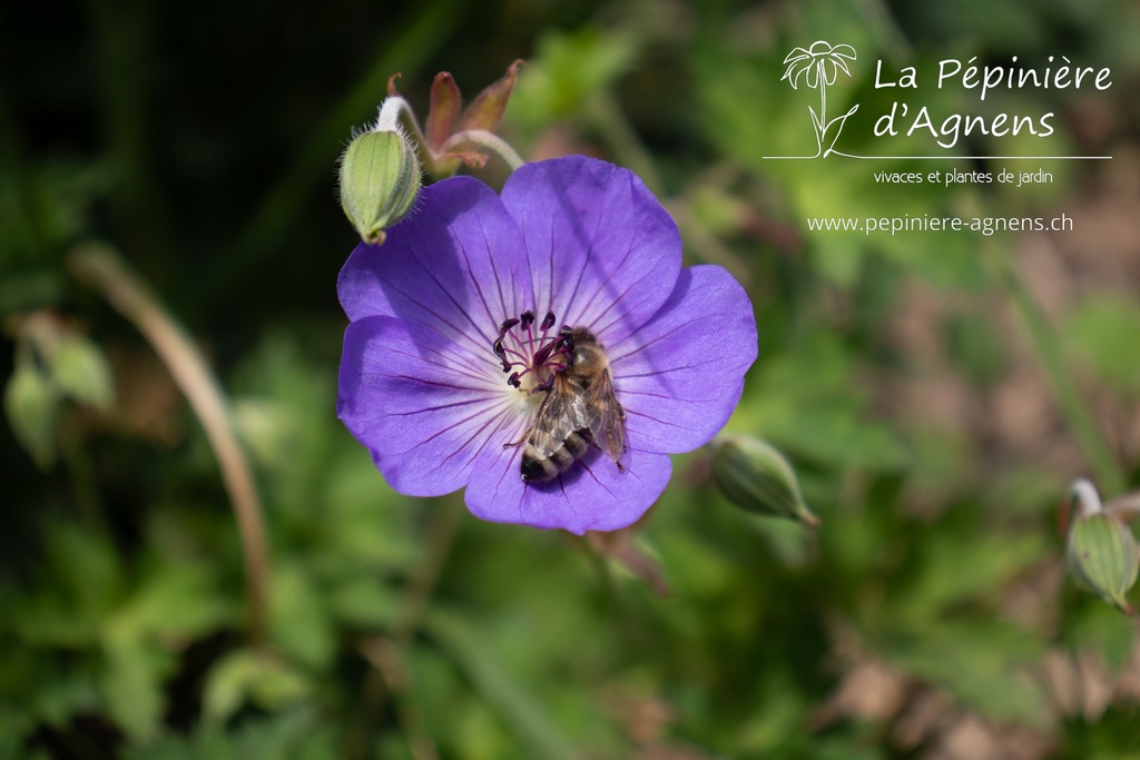
[[[503,203],[527,240],[538,313],[617,343],[673,292],[677,226],[629,170],[585,156],[527,164]]]

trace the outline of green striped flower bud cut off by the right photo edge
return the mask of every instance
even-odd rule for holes
[[[1125,595],[1137,581],[1137,541],[1132,530],[1116,516],[1098,512],[1073,522],[1067,561],[1077,583],[1132,614]]]

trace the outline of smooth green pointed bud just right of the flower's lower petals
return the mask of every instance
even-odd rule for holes
[[[746,512],[798,520],[808,528],[820,524],[782,453],[747,435],[726,435],[714,447],[712,480],[730,501]]]

